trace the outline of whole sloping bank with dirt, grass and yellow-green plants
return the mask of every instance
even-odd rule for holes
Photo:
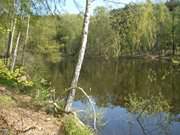
[[[23,68],[11,72],[0,62],[0,128],[12,135],[93,135],[77,117],[63,113],[63,104],[47,80],[32,80]]]

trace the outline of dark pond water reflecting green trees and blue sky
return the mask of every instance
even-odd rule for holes
[[[53,66],[52,81],[59,95],[72,79],[75,61],[67,60]],[[163,61],[145,60],[86,60],[80,76],[83,89],[92,97],[100,135],[180,135],[180,67]],[[126,106],[125,97],[136,93],[149,99],[161,93],[171,106],[169,111],[143,115]],[[151,105],[151,103],[150,103]],[[74,108],[82,111],[82,120],[92,124],[86,98],[77,92]],[[87,113],[88,112],[88,113]]]

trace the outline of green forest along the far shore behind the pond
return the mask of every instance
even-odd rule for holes
[[[17,65],[43,60],[58,63],[66,56],[77,56],[83,15],[38,15],[28,4],[22,1],[15,9],[11,1],[1,2],[1,56],[13,61],[17,42]],[[179,35],[178,4],[147,1],[112,10],[97,7],[91,17],[86,57],[179,55]]]

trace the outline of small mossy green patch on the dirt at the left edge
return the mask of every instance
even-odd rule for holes
[[[0,95],[0,106],[9,107],[15,105],[16,105],[15,101],[10,96]]]

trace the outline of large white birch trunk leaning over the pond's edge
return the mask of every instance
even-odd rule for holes
[[[81,49],[79,52],[78,62],[76,64],[76,68],[75,68],[75,72],[74,72],[74,77],[71,82],[71,87],[77,87],[82,63],[84,60],[85,50],[86,50],[86,46],[87,46],[88,29],[89,29],[89,23],[90,23],[91,2],[92,2],[92,0],[86,0],[86,10],[85,10],[85,15],[84,15],[83,33],[82,33],[82,42],[81,42],[82,44],[81,44]],[[72,103],[75,98],[75,93],[76,93],[76,89],[72,89],[69,91],[68,97],[66,100],[66,105],[64,108],[65,112],[71,111]]]

